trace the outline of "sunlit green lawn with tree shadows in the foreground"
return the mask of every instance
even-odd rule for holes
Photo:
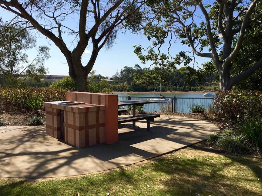
[[[87,163],[88,164],[88,163]],[[262,195],[262,159],[187,148],[109,172],[0,179],[0,195]]]

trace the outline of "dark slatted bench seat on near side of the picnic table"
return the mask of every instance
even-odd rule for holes
[[[155,118],[160,117],[160,114],[141,114],[137,116],[127,116],[118,118],[118,124],[120,123],[128,123],[138,120],[146,120],[147,121],[147,131],[150,131],[150,122],[153,122]]]

